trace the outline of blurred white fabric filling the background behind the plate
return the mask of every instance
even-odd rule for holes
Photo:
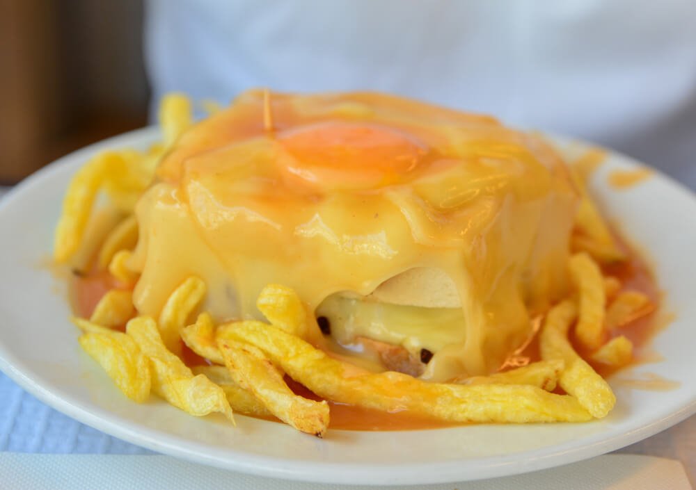
[[[153,101],[380,90],[618,149],[696,188],[696,1],[149,0]]]

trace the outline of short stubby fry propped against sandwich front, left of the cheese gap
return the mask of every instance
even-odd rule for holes
[[[280,284],[264,287],[256,300],[256,307],[271,325],[288,334],[303,336],[307,313],[303,302],[292,288]]]

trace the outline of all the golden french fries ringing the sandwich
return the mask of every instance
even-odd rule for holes
[[[138,274],[129,268],[138,238],[134,206],[161,155],[191,121],[188,99],[166,97],[161,106],[164,142],[147,152],[114,150],[93,158],[73,177],[56,229],[56,262],[84,270],[92,260],[93,267],[108,270],[118,281],[90,318],[72,320],[81,330],[81,347],[128,398],[144,402],[154,393],[188,414],[220,412],[232,423],[234,411],[275,417],[319,437],[329,427],[327,400],[450,423],[580,422],[602,418],[614,407],[610,386],[576,352],[571,336],[593,363],[624,366],[633,357],[633,345],[620,329],[655,305],[603,275],[601,265],[624,260],[624,252],[577,172],[582,200],[569,261],[574,294],[544,316],[538,334],[541,360],[528,366],[449,383],[363,371],[305,340],[315,328],[313,312],[294,291],[278,284],[269,284],[258,297],[266,322],[216,325],[209,313],[199,311],[206,284],[198,277],[171,292],[159,318],[139,316],[132,301]],[[90,230],[90,220],[102,195],[113,219],[99,236]],[[182,341],[209,364],[184,364]],[[297,395],[287,377],[323,400]]]

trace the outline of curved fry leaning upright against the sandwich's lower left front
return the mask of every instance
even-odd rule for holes
[[[195,276],[187,278],[168,297],[159,313],[159,331],[168,350],[181,352],[181,331],[188,325],[189,317],[203,301],[205,282]]]

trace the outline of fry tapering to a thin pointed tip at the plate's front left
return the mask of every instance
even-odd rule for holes
[[[167,350],[155,320],[147,316],[133,318],[126,325],[126,334],[150,360],[152,390],[157,395],[187,414],[204,416],[219,411],[234,423],[223,389],[205,375],[194,376],[181,359]]]

